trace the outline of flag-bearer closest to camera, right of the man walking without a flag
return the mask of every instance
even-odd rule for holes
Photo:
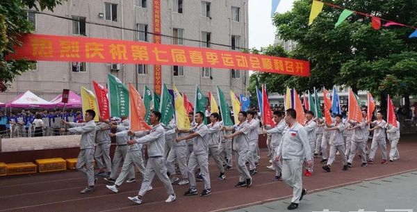
[[[326,131],[332,131],[332,136],[330,136],[330,156],[329,160],[327,161],[327,165],[323,166],[323,170],[327,172],[331,171],[332,163],[334,162],[334,158],[336,157],[336,151],[341,154],[342,162],[343,162],[343,170],[347,170],[347,159],[345,156],[345,141],[343,140],[343,131],[345,130],[345,125],[342,122],[342,115],[338,114],[335,117],[336,123],[333,126],[327,126],[325,129]]]

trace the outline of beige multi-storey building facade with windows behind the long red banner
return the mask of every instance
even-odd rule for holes
[[[54,12],[43,13],[75,20],[35,13],[28,13],[28,19],[35,24],[34,33],[39,34],[154,42],[153,6],[152,0],[68,0]],[[161,0],[161,42],[240,51],[248,47],[247,14],[247,0]],[[47,100],[64,88],[76,93],[80,93],[80,86],[92,90],[91,81],[105,85],[108,73],[132,83],[139,92],[145,85],[154,88],[153,65],[38,61],[33,70],[17,77],[0,95],[0,101],[10,101],[26,90]],[[204,93],[217,94],[218,85],[223,92],[238,94],[246,93],[249,83],[249,72],[243,70],[162,66],[161,75],[167,88],[176,85],[190,99],[194,98],[195,85]]]

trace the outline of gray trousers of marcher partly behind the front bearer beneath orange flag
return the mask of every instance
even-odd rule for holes
[[[136,165],[142,177],[145,178],[145,165],[143,164],[142,151],[129,151],[127,152],[126,158],[124,158],[122,171],[117,177],[115,184],[120,186],[127,179],[128,175],[133,170],[133,164]],[[129,178],[130,179],[130,178]]]

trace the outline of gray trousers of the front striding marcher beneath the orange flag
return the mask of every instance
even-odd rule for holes
[[[174,188],[172,188],[170,178],[167,176],[167,168],[165,166],[165,160],[162,156],[148,158],[145,169],[145,176],[143,177],[142,186],[140,186],[138,195],[141,197],[145,195],[152,184],[152,180],[154,179],[155,174],[162,182],[165,190],[167,190],[167,194],[174,195]]]

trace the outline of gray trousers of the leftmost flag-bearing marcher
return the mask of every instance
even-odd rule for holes
[[[94,186],[94,149],[81,149],[76,169],[87,176],[88,186]]]

